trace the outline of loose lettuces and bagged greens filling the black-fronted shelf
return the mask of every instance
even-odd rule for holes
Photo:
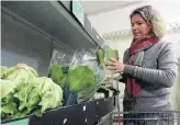
[[[67,65],[65,58],[59,60],[60,54],[55,53],[48,78],[38,77],[36,70],[25,64],[10,68],[1,66],[1,118],[42,116],[48,110],[93,99],[105,80],[106,61],[110,58],[119,60],[117,50],[99,49],[95,54],[99,65],[94,59],[88,61],[88,53],[77,53]]]

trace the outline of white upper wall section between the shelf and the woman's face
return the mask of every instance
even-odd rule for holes
[[[131,22],[128,15],[134,8],[136,7],[132,5],[130,8],[117,9],[114,11],[91,15],[88,16],[88,19],[100,34],[120,30],[130,30]]]

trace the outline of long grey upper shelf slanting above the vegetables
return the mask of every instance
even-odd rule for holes
[[[57,1],[2,1],[1,4],[71,48],[99,47],[98,42]]]

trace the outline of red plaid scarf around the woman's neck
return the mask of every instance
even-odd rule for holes
[[[138,53],[151,47],[157,43],[157,41],[158,38],[155,36],[147,36],[146,38],[143,38],[138,42],[133,41],[130,47],[130,65],[136,65],[135,61]],[[128,78],[125,89],[131,94],[131,96],[138,96],[140,86],[136,83],[135,79]]]

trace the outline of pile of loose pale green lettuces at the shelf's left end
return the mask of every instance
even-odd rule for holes
[[[29,66],[14,66],[1,79],[1,117],[42,116],[46,110],[63,105],[63,90],[50,78],[37,78]]]

